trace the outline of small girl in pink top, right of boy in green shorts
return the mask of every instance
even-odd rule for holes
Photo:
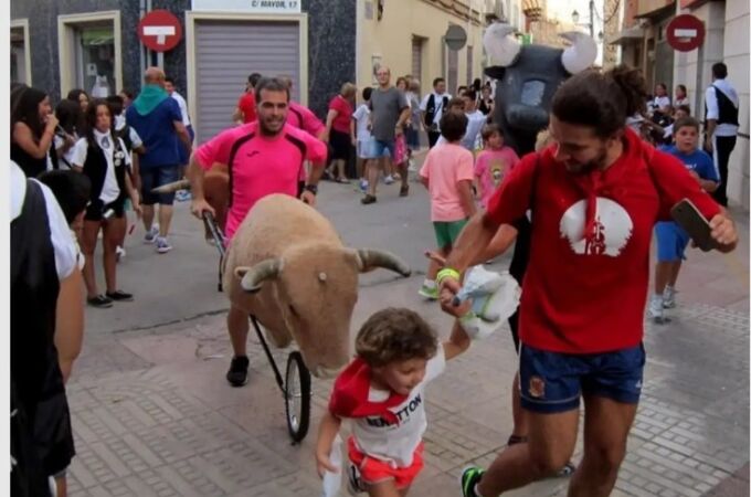
[[[504,134],[498,125],[483,127],[485,149],[475,161],[475,179],[477,195],[483,209],[487,209],[488,200],[500,187],[506,173],[519,162],[519,157],[511,147],[504,145]]]

